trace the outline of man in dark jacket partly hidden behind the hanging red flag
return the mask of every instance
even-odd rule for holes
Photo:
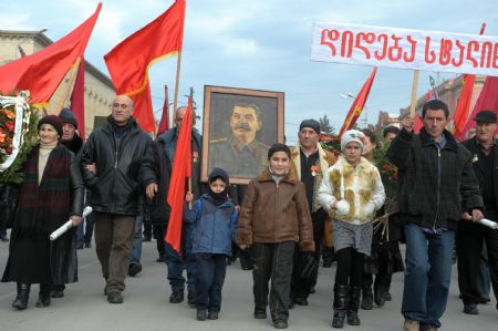
[[[169,206],[167,205],[167,194],[169,189],[169,178],[172,176],[173,159],[175,158],[176,143],[179,128],[186,113],[186,107],[179,107],[175,113],[176,126],[162,134],[148,156],[154,155],[145,163],[146,172],[144,180],[146,183],[147,197],[153,199],[151,206],[151,219],[154,224],[164,225],[167,231],[169,220]],[[201,136],[191,131],[191,193],[197,199],[203,194],[200,184],[200,152],[203,145]],[[191,254],[190,226],[184,223],[181,234],[181,256],[172,246],[165,242],[165,260],[168,268],[168,280],[172,286],[169,302],[179,303],[184,301],[185,278],[183,277],[184,263],[187,267],[187,290],[188,304],[195,304],[195,259]],[[164,238],[163,234],[163,238]]]

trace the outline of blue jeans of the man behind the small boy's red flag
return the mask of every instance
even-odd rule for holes
[[[181,231],[181,256],[165,242],[165,260],[168,271],[168,280],[173,290],[185,289],[184,265],[187,268],[187,289],[195,291],[196,260],[191,254],[191,226],[184,223]]]

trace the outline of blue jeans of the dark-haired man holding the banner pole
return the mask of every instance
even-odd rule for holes
[[[455,231],[425,232],[415,224],[405,225],[406,270],[402,314],[421,325],[440,328],[452,278]]]

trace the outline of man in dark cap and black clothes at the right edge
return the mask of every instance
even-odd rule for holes
[[[476,115],[476,137],[463,143],[473,155],[473,168],[479,182],[486,207],[485,216],[498,220],[498,149],[495,141],[496,114],[483,111]],[[464,300],[464,312],[478,314],[477,303],[483,302],[478,287],[483,241],[486,241],[492,290],[498,298],[498,231],[470,221],[464,214],[456,236],[458,255],[458,287]],[[486,298],[485,298],[486,300]],[[498,307],[498,306],[497,306]]]

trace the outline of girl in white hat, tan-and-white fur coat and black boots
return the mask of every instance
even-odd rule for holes
[[[342,155],[323,176],[319,201],[333,218],[338,269],[334,285],[333,328],[360,325],[363,258],[372,247],[372,219],[384,204],[378,169],[362,157],[365,136],[350,130],[341,137]]]

